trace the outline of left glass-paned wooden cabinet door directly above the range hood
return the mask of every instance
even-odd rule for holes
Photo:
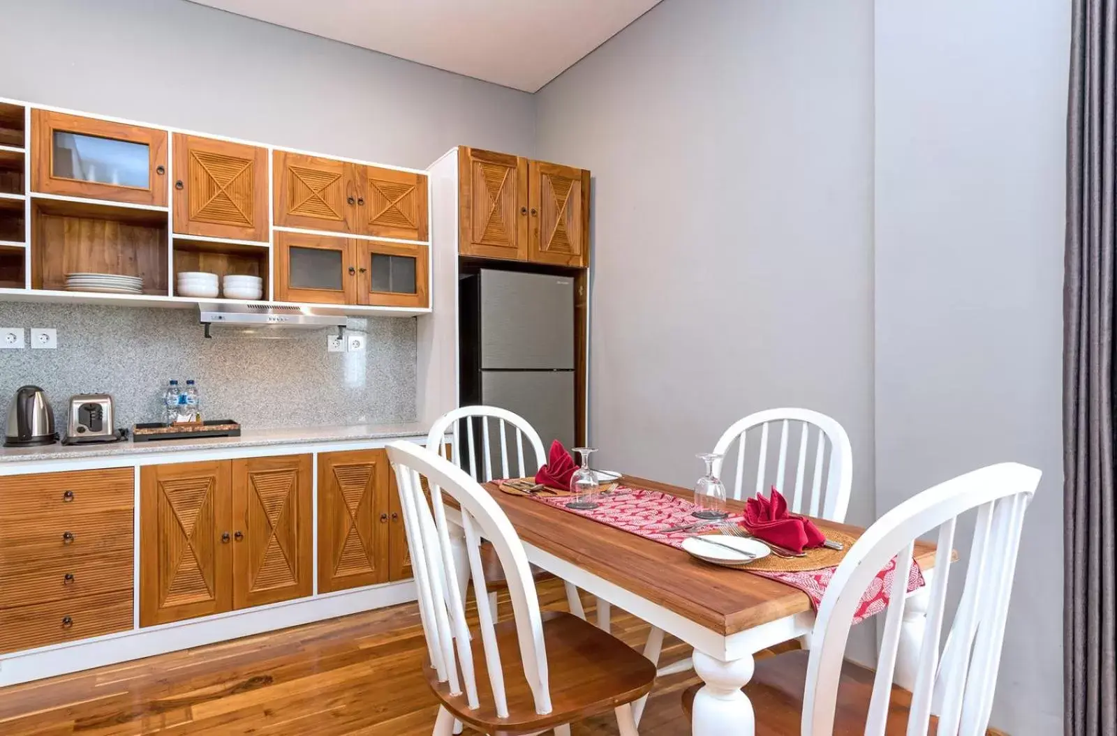
[[[356,304],[354,245],[349,238],[277,232],[275,298],[308,304]]]

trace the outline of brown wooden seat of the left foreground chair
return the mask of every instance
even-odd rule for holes
[[[496,625],[497,648],[504,668],[508,716],[499,718],[485,672],[485,649],[479,631],[472,632],[474,670],[481,706],[470,710],[465,692],[450,695],[439,682],[430,659],[423,663],[427,682],[447,710],[481,733],[495,736],[529,734],[605,713],[647,695],[656,667],[641,653],[591,623],[565,611],[543,611],[543,639],[547,652],[552,710],[535,713],[535,700],[524,677],[515,621]]]

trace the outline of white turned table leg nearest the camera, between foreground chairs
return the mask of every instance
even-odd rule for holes
[[[695,671],[705,685],[695,695],[694,736],[755,736],[753,704],[741,688],[753,677],[753,656],[724,662],[697,649]]]

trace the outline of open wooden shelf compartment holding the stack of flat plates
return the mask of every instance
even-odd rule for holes
[[[34,199],[31,287],[64,290],[66,274],[143,278],[143,293],[166,296],[166,212]]]

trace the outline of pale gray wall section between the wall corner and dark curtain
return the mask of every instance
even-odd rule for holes
[[[990,462],[1043,470],[994,724],[1062,733],[1070,3],[880,2],[876,28],[877,505]]]

